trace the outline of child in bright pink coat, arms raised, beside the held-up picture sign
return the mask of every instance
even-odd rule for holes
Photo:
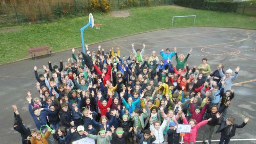
[[[189,123],[185,117],[185,114],[182,113],[181,114],[182,116],[182,120],[184,122],[184,124],[190,124],[191,125],[191,130],[190,130],[190,133],[185,133],[185,136],[184,136],[184,142],[185,144],[194,144],[196,143],[196,137],[197,137],[197,132],[198,132],[198,129],[207,124],[210,120],[212,120],[212,118],[209,118],[208,120],[204,120],[202,122],[199,122],[197,124],[196,120],[194,119],[190,119]]]

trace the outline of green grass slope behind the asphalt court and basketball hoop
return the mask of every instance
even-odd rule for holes
[[[105,13],[94,13],[95,23],[101,23],[100,30],[86,29],[87,44],[138,32],[170,28],[172,16],[196,15],[196,26],[220,26],[256,29],[255,17],[235,13],[195,10],[179,6],[157,6],[130,8],[127,18],[114,18]],[[0,33],[0,64],[25,58],[27,49],[50,45],[60,51],[81,46],[80,28],[87,24],[88,16],[62,18],[52,23],[26,24],[5,27],[20,28],[16,32]],[[175,20],[175,27],[192,26],[192,18]]]

